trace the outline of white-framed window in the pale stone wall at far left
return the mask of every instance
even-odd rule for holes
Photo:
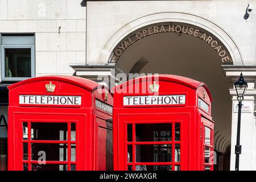
[[[1,35],[1,80],[20,81],[35,77],[34,34]]]

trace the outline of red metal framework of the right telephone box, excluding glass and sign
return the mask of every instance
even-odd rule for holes
[[[142,86],[149,86],[153,81],[159,84],[158,96],[175,94],[185,94],[186,101],[183,105],[132,105],[123,106],[125,96],[152,96],[156,94],[147,90],[142,92]],[[139,89],[139,93],[129,92],[129,88]],[[203,82],[190,78],[159,75],[135,78],[113,88],[114,93],[114,114],[113,114],[113,142],[114,142],[114,169],[127,170],[127,166],[136,165],[171,165],[175,170],[175,165],[180,165],[180,170],[204,170],[205,166],[210,166],[213,170],[213,160],[211,163],[204,163],[204,126],[211,129],[210,148],[213,152],[213,126],[214,122],[210,116],[212,98],[209,89]],[[122,92],[128,91],[128,93]],[[209,107],[208,111],[198,105],[198,98],[201,98]],[[205,119],[201,120],[201,117]],[[180,122],[180,141],[174,141],[174,123]],[[127,124],[133,125],[133,140],[127,141]],[[135,125],[137,123],[172,123],[172,141],[168,142],[136,142],[134,139]],[[146,134],[146,133],[145,133]],[[175,162],[175,143],[180,144],[180,162]],[[127,145],[133,146],[133,162],[127,162]],[[171,162],[136,162],[135,144],[172,144]]]

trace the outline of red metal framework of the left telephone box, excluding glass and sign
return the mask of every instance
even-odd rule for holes
[[[46,90],[46,84],[49,84],[50,81],[56,85],[53,92],[47,92]],[[80,77],[44,76],[30,78],[10,85],[9,90],[9,170],[23,170],[23,163],[27,163],[28,170],[32,170],[31,164],[38,163],[37,160],[32,160],[31,158],[31,143],[58,143],[67,144],[68,146],[67,160],[47,160],[40,162],[46,164],[67,164],[68,170],[71,170],[72,164],[76,164],[76,170],[97,170],[98,155],[96,148],[98,147],[98,143],[96,141],[98,133],[96,130],[98,121],[96,121],[96,117],[101,118],[103,121],[111,120],[112,113],[97,108],[96,99],[112,106],[113,97],[108,88]],[[105,97],[105,93],[108,94],[108,98]],[[21,105],[19,104],[20,94],[33,96],[81,96],[81,105]],[[23,122],[28,123],[27,140],[23,140]],[[32,122],[67,123],[68,138],[67,140],[32,140]],[[75,141],[71,140],[71,123],[76,123]],[[23,143],[28,143],[28,160],[23,160]],[[75,161],[71,161],[72,144],[76,144]]]

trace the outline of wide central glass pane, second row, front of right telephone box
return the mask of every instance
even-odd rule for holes
[[[171,162],[171,144],[136,145],[136,162]]]

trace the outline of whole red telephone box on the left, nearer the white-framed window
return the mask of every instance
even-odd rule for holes
[[[9,170],[112,170],[113,97],[97,82],[44,76],[9,87]]]

